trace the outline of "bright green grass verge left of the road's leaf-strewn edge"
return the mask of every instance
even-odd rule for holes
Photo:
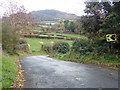
[[[11,88],[16,79],[16,56],[2,55],[2,88]]]

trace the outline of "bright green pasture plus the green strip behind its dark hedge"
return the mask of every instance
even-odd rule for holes
[[[53,37],[57,37],[57,35],[63,35],[63,36],[67,36],[67,37],[75,37],[75,38],[79,38],[79,39],[85,39],[87,40],[88,38],[82,35],[76,35],[76,34],[60,34],[60,33],[49,33],[49,34],[54,34]],[[49,35],[48,34],[48,35]],[[41,36],[47,36],[46,35],[41,35]],[[58,36],[59,37],[59,36]],[[41,42],[43,42],[43,44],[46,45],[51,45],[52,42],[58,42],[58,41],[64,41],[64,42],[68,42],[70,45],[72,44],[73,40],[61,40],[61,39],[39,39],[39,38],[26,38],[27,42],[31,45],[31,50],[35,50],[35,51],[40,51],[41,48]]]

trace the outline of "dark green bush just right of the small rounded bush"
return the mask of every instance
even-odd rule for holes
[[[90,46],[89,41],[81,39],[73,42],[71,50],[81,54],[86,54],[92,51],[92,47]]]

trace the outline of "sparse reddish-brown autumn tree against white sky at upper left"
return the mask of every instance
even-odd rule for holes
[[[7,18],[14,31],[19,33],[27,33],[33,26],[33,19],[30,13],[23,5],[19,5],[16,0],[7,0],[3,3],[5,8],[4,17]]]

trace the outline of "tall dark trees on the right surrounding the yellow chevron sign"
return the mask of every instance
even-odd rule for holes
[[[96,53],[120,54],[120,1],[85,4],[86,15],[74,22],[64,21],[65,30],[86,35],[90,40],[88,44]],[[117,41],[107,42],[107,34],[116,34]]]

